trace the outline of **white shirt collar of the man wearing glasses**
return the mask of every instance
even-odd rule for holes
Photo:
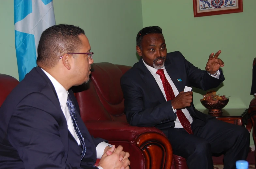
[[[42,69],[42,70],[46,74],[46,76],[51,80],[51,82],[53,83],[53,86],[57,93],[60,105],[62,105],[64,108],[66,108],[67,100],[68,100],[68,91],[66,91],[66,89],[55,78],[53,78],[52,75],[50,75],[44,69]]]

